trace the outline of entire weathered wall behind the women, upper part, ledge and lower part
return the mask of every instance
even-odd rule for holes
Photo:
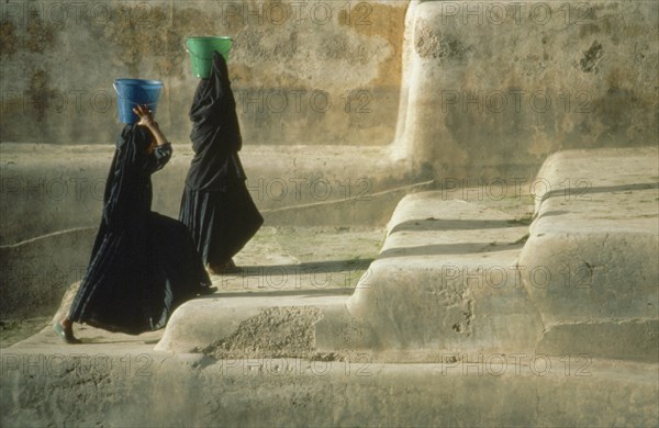
[[[120,129],[116,77],[165,81],[157,119],[180,145],[154,179],[154,209],[177,215],[197,85],[182,48],[188,35],[236,40],[231,77],[250,146],[242,156],[253,196],[272,210],[268,219],[383,223],[414,183],[500,178],[490,183],[515,187],[560,149],[656,144],[658,8],[645,0],[2,2],[0,140],[18,144],[0,154],[0,245],[22,268],[45,260],[51,244],[26,244],[36,248],[31,258],[9,246],[98,225]],[[35,142],[59,145],[23,144]],[[308,207],[288,211],[295,205]],[[85,259],[82,247],[66,251]]]

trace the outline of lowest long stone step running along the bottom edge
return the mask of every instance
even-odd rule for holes
[[[656,426],[656,364],[213,360],[144,346],[0,351],[2,426]]]

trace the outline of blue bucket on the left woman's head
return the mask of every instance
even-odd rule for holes
[[[137,123],[139,117],[133,113],[136,105],[148,105],[155,116],[163,82],[159,80],[144,79],[115,79],[116,106],[119,108],[119,122]]]

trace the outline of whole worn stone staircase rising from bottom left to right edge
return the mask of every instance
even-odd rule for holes
[[[530,227],[410,194],[354,291],[223,292],[161,337],[45,329],[1,351],[1,423],[656,426],[658,155],[550,157]]]

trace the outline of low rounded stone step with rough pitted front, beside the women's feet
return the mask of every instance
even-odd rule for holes
[[[233,356],[308,354],[315,350],[314,324],[331,308],[344,307],[350,292],[293,290],[196,299],[175,311],[155,350],[200,352],[221,341]]]

